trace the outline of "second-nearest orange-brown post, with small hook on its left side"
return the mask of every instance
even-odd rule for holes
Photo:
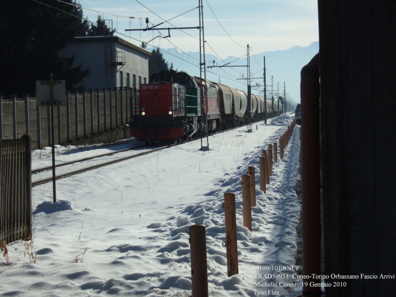
[[[237,246],[237,218],[235,213],[235,194],[224,194],[224,210],[226,221],[226,242],[227,248],[227,275],[238,274],[238,246]],[[199,295],[198,295],[199,296]]]

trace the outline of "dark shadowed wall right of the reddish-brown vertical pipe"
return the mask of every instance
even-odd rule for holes
[[[326,297],[396,296],[396,1],[318,7]]]

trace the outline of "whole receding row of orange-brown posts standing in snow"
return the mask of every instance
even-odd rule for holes
[[[279,139],[280,159],[285,155],[296,121]],[[274,153],[272,153],[272,150]],[[260,164],[260,190],[267,193],[266,185],[270,184],[273,162],[278,162],[277,143],[268,145],[268,150],[261,151]],[[248,167],[248,174],[242,175],[242,200],[243,200],[243,222],[244,227],[251,229],[251,207],[256,206],[255,174],[254,167]],[[235,194],[225,193],[223,207],[225,210],[226,241],[223,246],[227,249],[227,275],[238,274],[238,246],[237,246],[237,218],[235,210]],[[206,228],[204,225],[193,225],[190,227],[190,252],[191,252],[191,281],[192,297],[207,297],[207,258],[206,258]]]

